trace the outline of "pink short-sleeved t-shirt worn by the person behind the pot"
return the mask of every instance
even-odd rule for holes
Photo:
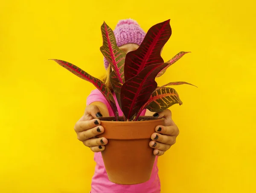
[[[114,93],[113,96],[117,104],[119,116],[122,116],[122,111],[117,103]],[[114,116],[110,105],[98,89],[91,92],[91,94],[87,97],[86,104],[90,105],[92,102],[96,101],[103,102],[108,108],[109,115]],[[141,115],[145,115],[145,110],[142,112]],[[150,179],[142,184],[134,185],[122,185],[110,182],[108,180],[108,175],[100,152],[94,153],[94,161],[96,162],[96,167],[91,184],[91,193],[160,193],[157,156],[154,162]]]

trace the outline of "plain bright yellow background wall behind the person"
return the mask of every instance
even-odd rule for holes
[[[93,153],[75,122],[94,88],[48,59],[104,74],[100,26],[171,19],[157,81],[175,89],[177,143],[159,159],[162,193],[256,192],[255,1],[9,0],[0,7],[0,192],[89,193]]]

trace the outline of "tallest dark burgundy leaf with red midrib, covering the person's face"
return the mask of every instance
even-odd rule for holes
[[[170,20],[158,23],[148,30],[140,47],[126,54],[125,81],[137,76],[149,65],[163,63],[160,52],[171,34]]]

